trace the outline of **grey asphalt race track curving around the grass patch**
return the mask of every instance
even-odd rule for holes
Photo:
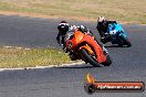
[[[55,42],[60,20],[0,15],[0,45],[24,47],[60,47]],[[96,35],[96,22],[85,24]],[[95,93],[84,90],[84,79],[91,73],[98,82],[146,83],[146,25],[123,25],[132,47],[106,44],[113,64],[109,67],[74,65],[39,69],[1,71],[0,97],[146,97],[143,93]]]

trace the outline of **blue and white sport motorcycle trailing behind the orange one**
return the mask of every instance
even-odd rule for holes
[[[132,46],[126,32],[118,23],[111,23],[104,37],[104,41],[102,41],[103,43],[111,42],[112,44],[117,44],[118,46]]]

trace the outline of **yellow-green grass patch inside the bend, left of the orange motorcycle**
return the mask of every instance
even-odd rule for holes
[[[0,47],[0,68],[35,67],[71,63],[58,48]]]

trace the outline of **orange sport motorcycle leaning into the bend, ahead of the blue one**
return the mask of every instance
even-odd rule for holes
[[[94,40],[94,36],[77,29],[67,32],[65,45],[76,60],[82,60],[95,67],[109,66],[112,64],[111,57]]]

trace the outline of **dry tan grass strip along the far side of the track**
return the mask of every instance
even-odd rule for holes
[[[34,12],[64,19],[98,15],[127,23],[146,23],[146,0],[0,0],[0,10]]]

